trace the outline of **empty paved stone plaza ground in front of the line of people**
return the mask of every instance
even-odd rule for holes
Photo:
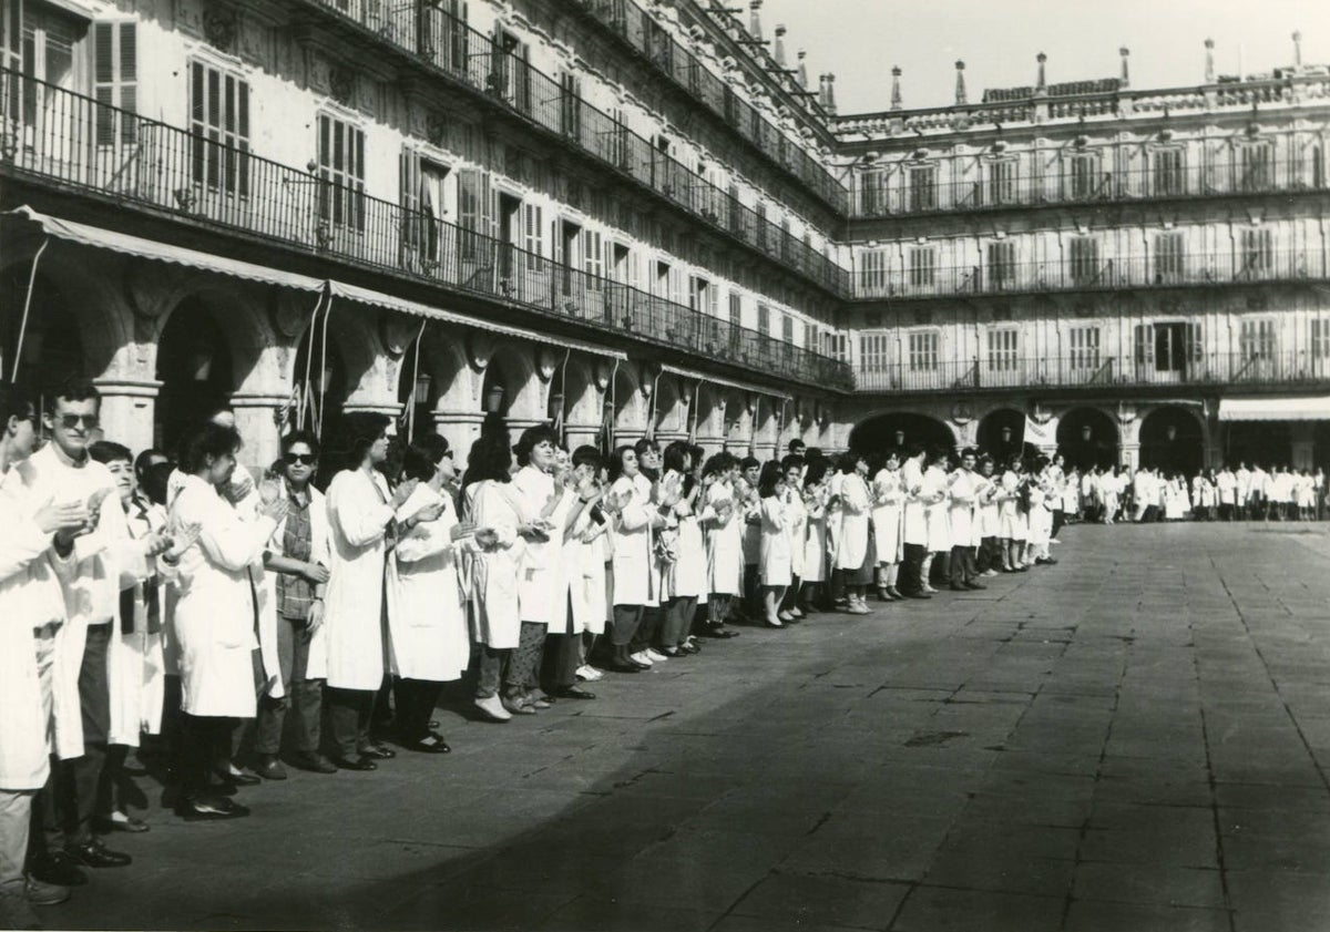
[[[447,757],[117,835],[52,927],[1330,929],[1330,525],[1075,526]]]

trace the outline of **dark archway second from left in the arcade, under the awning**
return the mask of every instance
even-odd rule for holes
[[[153,443],[174,451],[185,433],[235,391],[230,346],[213,311],[186,298],[172,311],[157,342],[157,395]]]

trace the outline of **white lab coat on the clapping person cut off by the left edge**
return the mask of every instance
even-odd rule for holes
[[[44,500],[43,500],[44,501]],[[23,464],[0,476],[0,788],[40,790],[51,772],[51,754],[61,759],[84,753],[78,679],[53,678],[56,729],[45,715],[33,647],[33,629],[55,624],[56,655],[69,626],[56,576],[52,534],[32,520]],[[72,562],[65,561],[68,569]]]

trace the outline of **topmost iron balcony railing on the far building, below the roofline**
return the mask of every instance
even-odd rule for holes
[[[1330,170],[1319,153],[1275,160],[1244,157],[1244,152],[1252,150],[1229,150],[1208,165],[1168,161],[1133,169],[1113,169],[1108,158],[1076,156],[1056,170],[1039,173],[1024,162],[975,158],[947,160],[932,168],[902,165],[880,175],[861,174],[851,215],[871,219],[1043,205],[1330,190]]]

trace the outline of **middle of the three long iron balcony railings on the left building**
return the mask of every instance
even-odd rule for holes
[[[849,273],[690,168],[600,110],[569,85],[532,68],[515,48],[438,7],[382,0],[307,0],[352,20],[462,85],[678,205],[720,233],[843,296]],[[773,150],[775,145],[773,142]],[[843,203],[842,203],[843,211]]]

